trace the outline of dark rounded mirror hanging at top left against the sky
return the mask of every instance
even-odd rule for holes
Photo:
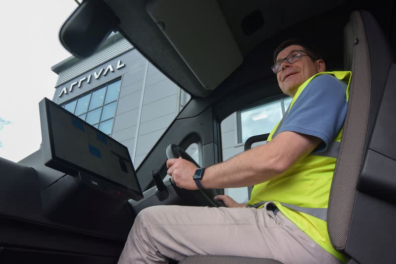
[[[102,0],[85,0],[59,32],[60,43],[77,57],[89,57],[120,23]]]

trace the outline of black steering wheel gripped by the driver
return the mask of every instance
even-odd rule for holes
[[[166,156],[168,158],[182,157],[183,159],[191,161],[194,165],[196,165],[199,168],[199,165],[194,160],[194,158],[191,158],[191,156],[188,155],[187,152],[185,152],[183,149],[181,149],[179,146],[177,146],[175,144],[170,144],[166,148]],[[214,200],[215,196],[221,194],[219,189],[204,189],[203,191],[202,190],[191,191],[191,190],[179,188],[173,182],[173,179],[171,181],[172,181],[173,187],[179,193],[179,195],[183,196],[183,198],[186,198],[186,200],[190,203],[193,203],[193,205],[195,205],[195,206],[211,206],[211,207],[220,206],[220,204],[216,203],[216,200]]]

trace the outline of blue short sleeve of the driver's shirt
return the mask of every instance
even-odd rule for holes
[[[320,138],[313,151],[322,152],[343,126],[347,113],[347,84],[329,74],[312,79],[290,108],[278,133],[293,131]]]

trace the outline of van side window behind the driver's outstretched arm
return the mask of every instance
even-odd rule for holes
[[[223,161],[244,151],[246,140],[255,135],[270,133],[282,119],[292,98],[278,97],[264,103],[241,109],[230,114],[221,122]],[[265,142],[252,145],[256,147]],[[247,203],[247,187],[227,188],[224,193],[238,203]]]

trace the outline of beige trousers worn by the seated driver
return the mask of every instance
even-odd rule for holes
[[[154,206],[141,211],[119,264],[168,263],[193,255],[269,258],[283,264],[340,263],[281,212]]]

